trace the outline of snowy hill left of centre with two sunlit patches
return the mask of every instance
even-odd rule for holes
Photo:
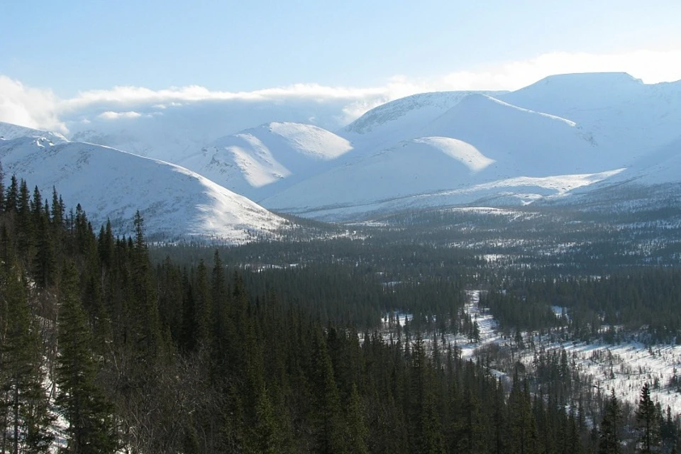
[[[220,138],[179,164],[258,199],[273,194],[274,183],[310,176],[323,162],[352,149],[348,140],[317,126],[268,123]]]

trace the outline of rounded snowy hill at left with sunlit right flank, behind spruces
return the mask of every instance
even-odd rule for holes
[[[52,187],[70,208],[81,204],[96,226],[106,218],[131,232],[138,209],[152,239],[187,236],[240,243],[270,235],[285,221],[209,179],[167,162],[86,143],[46,138],[0,140],[0,161],[43,194]]]

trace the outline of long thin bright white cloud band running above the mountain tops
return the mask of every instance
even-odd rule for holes
[[[326,87],[321,84],[294,84],[254,92],[214,92],[205,87],[171,87],[151,90],[143,87],[114,87],[109,90],[81,92],[63,101],[67,113],[87,106],[177,106],[196,101],[275,101],[312,99],[346,101],[343,113],[356,118],[378,104],[410,94],[441,90],[514,90],[551,74],[569,72],[629,72],[648,84],[681,79],[681,49],[636,50],[619,54],[596,55],[551,52],[528,60],[500,62],[474,70],[437,76],[409,78],[397,75],[379,87]]]

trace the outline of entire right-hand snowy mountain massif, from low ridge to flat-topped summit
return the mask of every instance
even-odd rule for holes
[[[643,194],[641,187],[681,182],[681,149],[673,142],[680,125],[681,81],[643,84],[623,73],[551,76],[494,95],[409,96],[340,131],[353,140],[353,159],[262,204],[333,219],[557,196],[561,203],[581,203],[582,197],[565,195],[577,188],[577,194],[621,184],[638,188],[611,189],[626,198]],[[434,140],[458,151],[432,153]],[[476,171],[463,166],[456,159],[463,148],[475,150],[468,155],[471,163],[484,165]]]

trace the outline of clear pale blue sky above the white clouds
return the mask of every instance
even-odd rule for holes
[[[678,1],[22,0],[2,9],[0,74],[62,98],[114,86],[375,87],[549,52],[681,48]]]

